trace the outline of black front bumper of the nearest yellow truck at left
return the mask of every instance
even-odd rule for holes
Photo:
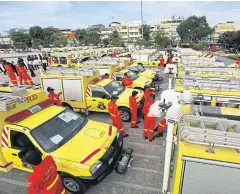
[[[111,153],[109,153],[110,148],[113,149],[113,152]],[[108,174],[110,174],[115,169],[116,164],[121,158],[123,151],[123,138],[121,135],[119,136],[118,139],[117,137],[114,139],[110,148],[105,153],[105,155],[100,159],[103,162],[103,165],[98,169],[98,171],[95,174],[93,174],[90,177],[78,177],[83,183],[96,185],[100,183]],[[113,158],[111,164],[108,163],[110,158]]]

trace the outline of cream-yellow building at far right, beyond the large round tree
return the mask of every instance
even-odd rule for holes
[[[235,24],[233,21],[228,21],[227,23],[218,23],[214,26],[214,32],[211,39],[214,43],[217,43],[221,34],[223,34],[224,32],[233,31],[235,31]]]

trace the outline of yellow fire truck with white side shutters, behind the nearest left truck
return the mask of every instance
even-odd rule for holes
[[[116,81],[105,79],[99,71],[93,68],[80,68],[78,70],[55,68],[41,74],[42,88],[47,92],[47,87],[62,92],[61,100],[64,106],[74,110],[108,112],[110,97],[117,95],[117,105],[124,122],[131,120],[129,97],[133,89],[125,88]],[[143,91],[139,90],[137,101],[139,113],[143,107]]]

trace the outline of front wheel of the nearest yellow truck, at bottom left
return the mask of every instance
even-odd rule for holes
[[[73,194],[83,194],[87,191],[86,186],[74,176],[65,173],[60,176],[62,178],[63,186],[68,192]]]

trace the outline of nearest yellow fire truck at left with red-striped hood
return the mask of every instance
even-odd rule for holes
[[[30,172],[18,153],[36,149],[54,158],[64,187],[74,194],[100,182],[121,157],[123,140],[115,127],[55,106],[40,90],[0,87],[0,129],[0,171]]]

